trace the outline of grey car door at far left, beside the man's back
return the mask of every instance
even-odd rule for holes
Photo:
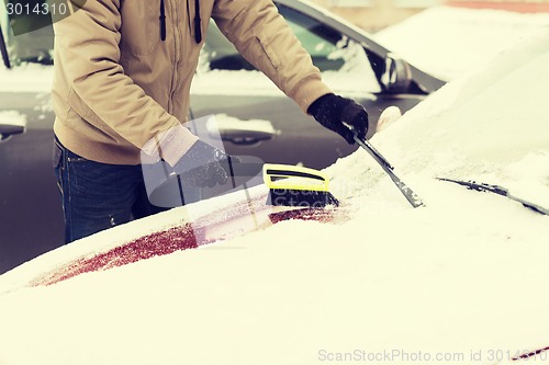
[[[2,21],[10,62],[3,57],[8,65],[0,64],[0,274],[64,242],[52,168],[52,67],[24,64],[48,53],[52,30],[15,37],[5,25]]]

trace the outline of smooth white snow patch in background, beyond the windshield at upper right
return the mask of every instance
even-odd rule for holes
[[[549,13],[435,7],[376,38],[418,68],[451,80],[545,26]]]

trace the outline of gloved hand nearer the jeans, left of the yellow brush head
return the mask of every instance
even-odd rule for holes
[[[234,160],[233,160],[234,159]],[[173,167],[183,184],[194,187],[223,185],[229,175],[229,160],[239,161],[222,150],[197,140]]]

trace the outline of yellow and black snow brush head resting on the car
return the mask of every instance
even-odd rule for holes
[[[303,208],[339,205],[337,198],[328,191],[329,176],[318,170],[266,163],[264,182],[269,187],[268,205]]]

